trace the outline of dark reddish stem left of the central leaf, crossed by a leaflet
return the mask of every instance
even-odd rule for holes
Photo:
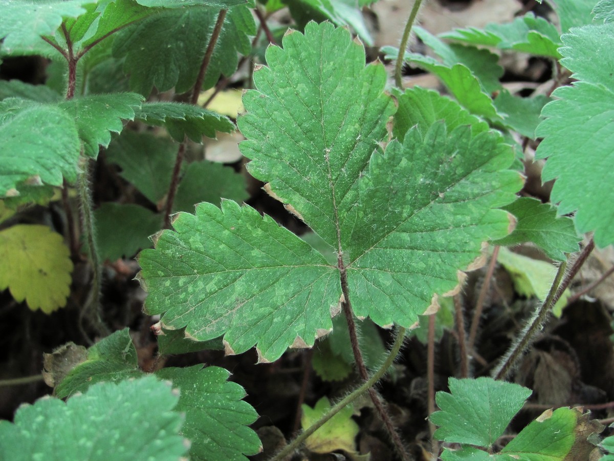
[[[216,48],[217,39],[219,39],[220,33],[222,33],[222,27],[224,25],[224,20],[226,19],[227,12],[228,10],[221,9],[219,14],[217,15],[216,25],[213,28],[211,38],[209,39],[209,44],[207,45],[207,49],[204,52],[203,61],[201,62],[200,70],[198,71],[198,77],[196,77],[196,82],[192,87],[190,103],[194,105],[198,103],[198,96],[200,95],[200,90],[203,87],[204,76],[207,73],[207,69],[209,68],[209,63],[211,63],[211,57],[213,56],[213,50]],[[173,203],[175,202],[177,187],[179,187],[179,173],[181,173],[181,164],[184,161],[186,144],[187,140],[185,140],[184,138],[184,140],[179,144],[179,148],[177,148],[177,156],[175,157],[173,175],[171,176],[171,185],[169,186],[168,194],[166,195],[166,206],[164,210],[165,229],[169,229],[171,227],[171,213],[173,213]]]

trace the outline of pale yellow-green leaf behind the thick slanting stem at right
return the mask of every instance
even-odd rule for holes
[[[527,297],[535,296],[544,300],[556,275],[556,267],[546,261],[527,258],[522,254],[513,253],[507,248],[500,248],[497,261],[505,267],[514,282],[514,288],[519,294]],[[554,305],[553,313],[561,317],[561,312],[571,293],[565,290],[561,299]]]

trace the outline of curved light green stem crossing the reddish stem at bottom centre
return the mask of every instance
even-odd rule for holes
[[[310,435],[312,435],[316,430],[322,427],[325,422],[330,420],[333,416],[335,416],[338,412],[344,409],[346,406],[351,404],[354,400],[359,398],[363,393],[367,392],[373,388],[373,386],[378,382],[381,377],[386,374],[388,369],[391,367],[394,359],[398,355],[398,351],[401,349],[401,345],[403,344],[403,339],[405,337],[405,328],[398,328],[397,335],[394,340],[394,344],[390,352],[386,357],[386,361],[384,361],[383,365],[379,367],[378,371],[373,374],[373,376],[369,377],[363,384],[361,384],[356,390],[352,391],[348,396],[346,396],[339,403],[335,404],[330,411],[327,412],[324,416],[322,416],[319,420],[317,420],[313,425],[309,426],[303,433],[301,433],[297,438],[295,438],[292,442],[287,444],[282,451],[275,455],[275,457],[271,461],[281,461],[286,459],[286,457],[295,451]]]

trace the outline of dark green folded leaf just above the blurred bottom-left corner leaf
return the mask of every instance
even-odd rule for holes
[[[55,370],[49,368],[46,372],[55,374]],[[87,350],[87,359],[76,364],[61,382],[56,382],[55,395],[64,398],[76,392],[86,392],[98,382],[119,382],[142,374],[132,338],[128,328],[124,328],[91,346]]]

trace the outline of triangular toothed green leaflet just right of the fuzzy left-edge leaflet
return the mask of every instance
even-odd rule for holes
[[[96,158],[98,145],[109,146],[111,132],[122,132],[122,119],[133,120],[142,100],[136,93],[116,93],[74,98],[59,106],[74,117],[85,155]]]

